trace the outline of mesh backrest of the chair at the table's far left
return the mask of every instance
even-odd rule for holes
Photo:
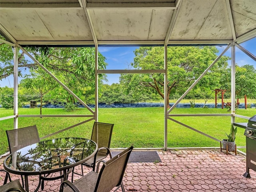
[[[28,145],[40,142],[36,125],[13,130],[6,130],[6,134],[8,138],[10,153],[13,153]]]

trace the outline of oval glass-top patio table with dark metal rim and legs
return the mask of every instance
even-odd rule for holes
[[[23,175],[25,189],[29,192],[28,176],[39,175],[43,180],[63,178],[74,166],[82,164],[96,153],[97,144],[85,138],[56,138],[41,141],[13,152],[4,160],[4,169],[13,174]],[[61,172],[58,177],[47,178],[47,175]],[[41,179],[38,187],[40,188]]]

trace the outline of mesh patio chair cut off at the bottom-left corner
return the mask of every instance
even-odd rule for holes
[[[4,185],[0,186],[0,192],[11,192],[11,191],[26,192],[24,188],[21,186],[19,179],[12,181],[10,174],[6,170],[0,169],[0,172],[6,173],[4,178]],[[9,182],[8,182],[8,179],[9,179]]]

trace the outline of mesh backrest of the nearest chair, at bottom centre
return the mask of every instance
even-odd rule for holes
[[[127,148],[103,164],[94,192],[109,192],[120,186],[132,149],[133,146]]]

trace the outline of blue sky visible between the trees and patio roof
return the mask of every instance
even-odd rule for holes
[[[248,40],[246,42],[243,42],[240,44],[246,50],[254,54],[256,56],[256,38]],[[99,52],[106,57],[106,62],[108,63],[107,69],[128,69],[130,68],[130,64],[133,62],[134,58],[134,50],[136,50],[138,47],[99,47]],[[226,48],[226,46],[223,47],[217,47],[222,52]],[[231,49],[229,49],[226,54],[226,56],[231,57]],[[229,64],[231,61],[228,61]],[[243,66],[246,64],[253,65],[256,68],[256,62],[244,54],[239,48],[236,47],[236,63],[239,66]],[[119,74],[108,74],[108,82],[105,82],[107,84],[112,83],[118,83],[119,82]],[[13,76],[9,76],[6,79],[3,79],[0,81],[0,86],[8,86],[13,87]]]

